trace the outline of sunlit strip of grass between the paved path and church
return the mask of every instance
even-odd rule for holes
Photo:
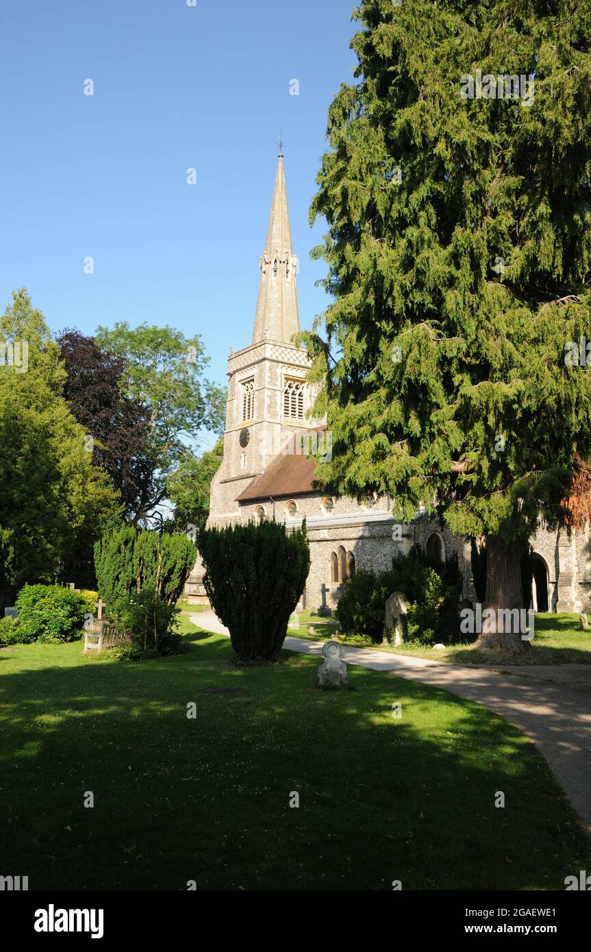
[[[534,639],[531,651],[524,655],[513,655],[508,651],[483,651],[475,645],[445,645],[434,649],[431,646],[411,647],[389,644],[376,645],[368,639],[364,644],[342,636],[343,645],[354,647],[379,648],[390,654],[409,655],[414,658],[428,658],[447,664],[464,664],[476,667],[500,667],[507,664],[591,664],[591,631],[582,631],[579,615],[557,615],[550,612],[536,615]],[[290,629],[289,634],[298,638],[325,640],[332,630],[326,629],[310,634],[307,625],[301,625],[299,631]]]

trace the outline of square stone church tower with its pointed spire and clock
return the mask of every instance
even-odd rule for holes
[[[297,269],[280,152],[252,343],[236,352],[230,348],[227,361],[224,460],[211,483],[209,525],[240,521],[241,492],[281,452],[290,434],[315,425],[305,416],[314,399],[305,382],[309,358],[291,341],[300,330]]]

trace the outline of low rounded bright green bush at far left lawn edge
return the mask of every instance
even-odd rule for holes
[[[15,607],[21,640],[49,645],[79,638],[87,610],[78,592],[59,585],[25,585]]]

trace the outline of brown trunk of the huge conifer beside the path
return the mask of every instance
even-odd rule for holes
[[[522,635],[526,619],[522,612],[522,573],[518,546],[507,545],[501,536],[486,536],[486,599],[483,606],[483,631],[476,642],[479,648],[502,649],[523,654],[530,642]],[[494,614],[486,609],[493,609]],[[516,615],[515,609],[518,614]],[[513,614],[509,615],[512,611]]]

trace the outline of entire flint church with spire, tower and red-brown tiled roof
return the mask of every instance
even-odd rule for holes
[[[415,544],[440,560],[456,552],[463,598],[474,602],[468,541],[430,521],[424,510],[400,526],[389,496],[358,502],[313,486],[316,458],[330,460],[332,441],[325,422],[309,416],[316,396],[306,381],[310,362],[305,349],[292,343],[300,330],[297,272],[280,153],[252,341],[239,350],[230,347],[227,360],[224,458],[211,482],[207,525],[275,519],[289,529],[305,519],[311,565],[300,607],[310,611],[334,609],[355,571],[382,571]],[[531,542],[534,609],[591,610],[588,529],[569,536],[541,527]],[[198,563],[188,596],[203,593],[202,573]]]

